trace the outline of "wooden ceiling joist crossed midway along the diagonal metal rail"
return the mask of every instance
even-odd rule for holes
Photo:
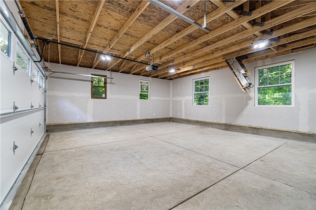
[[[177,8],[177,11],[180,13],[186,12],[190,7],[194,6],[196,3],[198,3],[198,0],[187,0],[181,6]],[[166,17],[163,21],[161,21],[156,27],[154,27],[152,30],[150,30],[147,34],[145,34],[141,39],[139,39],[133,46],[129,48],[128,51],[121,54],[120,57],[125,58],[128,56],[131,52],[136,50],[139,46],[144,44],[147,40],[152,38],[156,33],[158,33],[160,30],[164,29],[166,26],[168,26],[170,23],[172,23],[175,19],[178,17],[170,14],[168,17]],[[152,53],[153,54],[153,53]],[[115,63],[116,64],[116,63]],[[115,65],[114,64],[114,65]]]

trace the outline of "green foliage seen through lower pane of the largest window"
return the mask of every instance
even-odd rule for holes
[[[292,87],[258,88],[258,105],[291,105]]]

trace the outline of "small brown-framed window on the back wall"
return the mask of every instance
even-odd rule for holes
[[[104,75],[95,75],[101,77],[91,77],[91,98],[107,98],[107,81]]]

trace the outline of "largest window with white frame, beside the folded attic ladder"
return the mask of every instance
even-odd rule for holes
[[[256,67],[256,105],[294,106],[294,61]]]

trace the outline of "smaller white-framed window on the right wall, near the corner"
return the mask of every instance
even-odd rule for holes
[[[208,106],[209,78],[193,80],[194,106]]]

